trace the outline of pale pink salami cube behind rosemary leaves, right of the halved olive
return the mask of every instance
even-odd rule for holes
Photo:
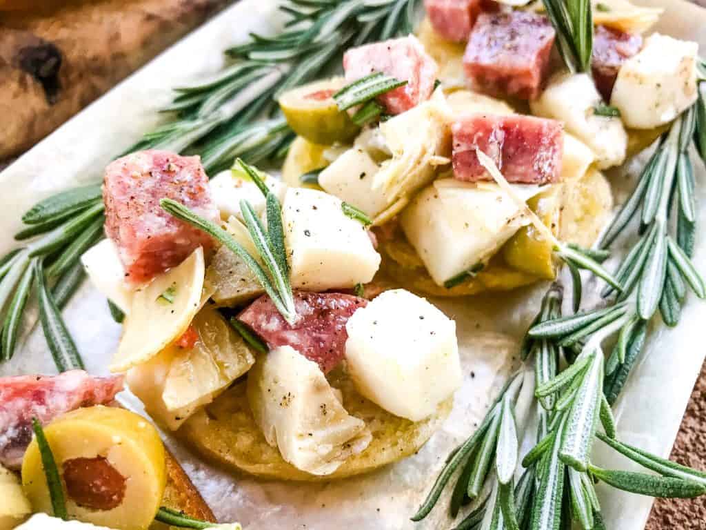
[[[436,81],[436,62],[424,51],[417,37],[409,35],[349,49],[343,56],[346,82],[383,72],[405,86],[390,90],[378,100],[391,114],[400,114],[428,100]]]

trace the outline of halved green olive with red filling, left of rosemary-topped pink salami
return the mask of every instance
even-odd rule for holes
[[[338,110],[333,95],[345,86],[341,77],[288,90],[279,103],[294,132],[313,143],[347,142],[359,131],[348,113]]]

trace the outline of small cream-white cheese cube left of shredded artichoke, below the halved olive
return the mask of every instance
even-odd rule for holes
[[[379,169],[366,151],[352,148],[318,175],[318,184],[325,192],[374,218],[388,206],[383,190],[373,189],[373,179]]]

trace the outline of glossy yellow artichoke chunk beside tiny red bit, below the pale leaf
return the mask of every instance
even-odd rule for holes
[[[128,386],[150,416],[176,430],[246,373],[255,357],[245,341],[212,305],[193,319],[193,348],[170,346],[128,372]]]

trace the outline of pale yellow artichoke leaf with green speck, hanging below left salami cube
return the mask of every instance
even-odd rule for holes
[[[176,341],[201,307],[205,264],[198,247],[181,264],[136,290],[112,372],[146,363]]]

